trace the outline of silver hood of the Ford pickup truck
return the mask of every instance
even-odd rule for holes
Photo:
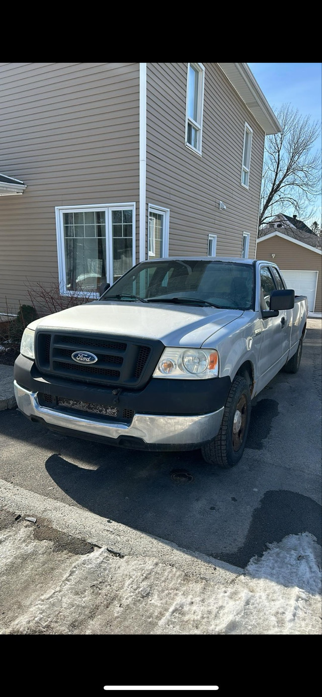
[[[238,309],[95,300],[42,317],[29,328],[106,332],[123,337],[159,339],[164,346],[200,347],[208,337],[242,314],[243,310]]]

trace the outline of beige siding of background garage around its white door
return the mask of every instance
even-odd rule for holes
[[[319,271],[314,312],[322,312],[322,255],[282,237],[270,237],[257,244],[256,258],[272,261],[287,271]]]

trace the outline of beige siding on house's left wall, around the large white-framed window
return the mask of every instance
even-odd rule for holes
[[[0,312],[58,280],[55,206],[139,208],[139,63],[0,63]],[[137,222],[137,245],[138,222]]]

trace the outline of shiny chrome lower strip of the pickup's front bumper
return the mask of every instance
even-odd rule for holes
[[[130,424],[122,424],[96,418],[82,418],[56,411],[56,409],[48,409],[38,404],[37,392],[25,390],[16,381],[14,386],[18,409],[29,418],[41,418],[52,426],[81,431],[93,436],[107,436],[107,438],[134,436],[142,438],[145,443],[164,443],[164,445],[206,443],[217,436],[224,413],[224,407],[222,407],[218,411],[199,416],[135,414]]]

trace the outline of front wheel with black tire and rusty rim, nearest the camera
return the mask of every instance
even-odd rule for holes
[[[229,390],[218,435],[201,447],[202,457],[208,464],[228,468],[240,461],[250,427],[251,409],[250,386],[245,378],[237,376]],[[237,412],[238,418],[234,424]]]

